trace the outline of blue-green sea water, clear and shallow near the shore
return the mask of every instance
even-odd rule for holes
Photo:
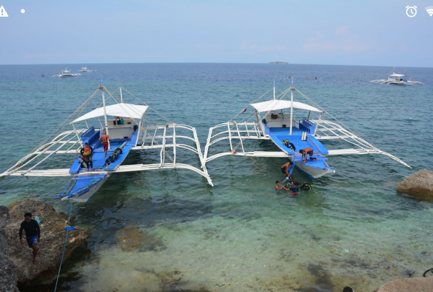
[[[81,65],[67,67],[77,71]],[[419,277],[431,268],[432,203],[397,193],[396,186],[433,164],[433,69],[401,68],[424,85],[392,86],[369,82],[385,77],[392,69],[386,67],[87,67],[94,71],[58,79],[49,76],[64,66],[0,66],[1,172],[81,105],[97,89],[100,75],[109,89],[122,81],[125,89],[171,121],[196,127],[202,151],[209,127],[228,121],[271,89],[274,79],[277,88],[285,90],[290,84],[282,78],[294,76],[297,89],[413,168],[379,155],[333,156],[328,161],[337,170],[333,176],[312,181],[294,170],[297,181],[314,184],[297,197],[274,191],[284,158],[213,160],[207,165],[213,188],[188,170],[114,174],[88,203],[74,204],[74,224],[89,228],[91,236],[64,264],[61,289],[160,291],[164,279],[166,289],[173,291],[342,291],[350,285],[358,292],[408,277],[411,270]],[[38,77],[42,73],[48,77]],[[254,150],[275,148],[262,141],[249,149]],[[151,158],[133,154],[126,162],[137,160]],[[199,165],[195,157],[185,162]],[[69,163],[63,158],[51,167],[67,168]],[[32,197],[68,213],[69,202],[52,198],[68,181],[30,178],[29,185],[25,178],[0,179],[0,205]],[[122,250],[115,233],[126,226],[136,226],[151,244]],[[53,287],[48,282],[32,291]]]

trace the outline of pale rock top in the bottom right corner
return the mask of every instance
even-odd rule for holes
[[[431,292],[433,277],[397,279],[378,287],[374,292]]]

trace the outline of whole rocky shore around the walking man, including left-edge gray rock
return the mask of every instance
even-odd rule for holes
[[[0,230],[0,243],[7,244],[2,244],[0,250],[0,264],[2,265],[0,281],[6,283],[8,289],[5,291],[18,291],[17,282],[26,285],[41,282],[56,275],[61,264],[66,236],[65,226],[68,224],[69,216],[63,212],[56,213],[52,206],[33,199],[24,199],[14,205],[11,210],[3,206],[1,208],[0,226],[3,224],[4,229]],[[32,250],[26,244],[19,242],[18,231],[26,212],[32,213],[33,219],[38,217],[41,220],[39,224],[41,241],[38,244],[40,251],[37,255],[37,265],[33,265]],[[10,219],[4,220],[8,216]],[[71,216],[71,226],[74,219],[75,216]],[[82,246],[90,235],[89,230],[75,227],[76,230],[68,232],[63,261],[70,257],[73,250]],[[4,233],[9,234],[9,237],[3,236]]]

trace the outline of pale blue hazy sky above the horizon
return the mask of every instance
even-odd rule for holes
[[[406,7],[416,6],[408,17]],[[0,0],[0,64],[433,67],[430,1]],[[25,12],[21,13],[21,9]]]

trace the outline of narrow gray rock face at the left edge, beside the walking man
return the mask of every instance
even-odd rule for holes
[[[18,292],[17,267],[9,258],[9,247],[7,239],[9,233],[3,229],[10,222],[9,209],[0,206],[0,291]]]

